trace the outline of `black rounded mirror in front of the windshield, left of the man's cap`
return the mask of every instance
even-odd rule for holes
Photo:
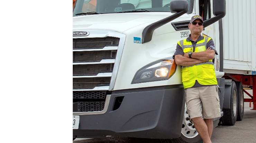
[[[170,11],[171,13],[178,13],[188,8],[188,4],[189,3],[186,0],[173,0],[170,2]]]

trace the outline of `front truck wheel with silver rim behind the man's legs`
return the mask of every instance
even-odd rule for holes
[[[194,123],[190,119],[185,105],[181,136],[176,139],[161,139],[162,143],[203,143],[202,138],[195,130]]]

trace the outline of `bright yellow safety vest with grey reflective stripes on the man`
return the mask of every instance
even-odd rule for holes
[[[205,47],[210,39],[210,37],[204,37],[204,39],[198,41],[195,45],[194,52],[206,51]],[[179,41],[178,44],[183,48],[184,53],[193,52],[191,41],[186,41],[186,39],[184,39]],[[192,66],[182,66],[181,68],[184,89],[194,86],[195,80],[201,85],[218,84],[212,60]]]

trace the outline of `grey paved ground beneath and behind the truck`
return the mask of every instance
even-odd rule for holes
[[[252,94],[252,90],[247,90]],[[245,98],[249,98],[244,94]],[[253,104],[252,104],[253,107]],[[244,118],[234,126],[217,126],[213,129],[212,143],[256,143],[256,111],[245,102]],[[161,143],[156,139],[107,136],[103,139],[75,139],[73,143]]]

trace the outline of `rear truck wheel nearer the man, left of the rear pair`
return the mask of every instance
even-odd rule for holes
[[[234,81],[231,85],[230,94],[230,109],[222,109],[223,111],[223,124],[224,125],[234,125],[237,119],[237,88]]]

